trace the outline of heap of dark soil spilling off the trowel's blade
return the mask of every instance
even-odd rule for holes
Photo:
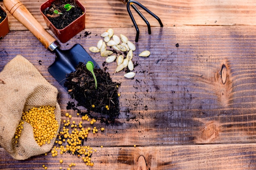
[[[91,67],[91,66],[90,66]],[[91,68],[89,68],[91,69]],[[120,114],[118,88],[120,83],[113,82],[110,74],[103,69],[93,69],[97,77],[97,89],[92,73],[85,63],[79,63],[76,71],[70,73],[64,83],[68,94],[83,106],[89,114],[95,112],[108,121],[114,121]]]

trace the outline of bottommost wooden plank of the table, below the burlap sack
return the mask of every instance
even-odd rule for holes
[[[255,144],[103,147],[92,155],[93,168],[74,155],[41,155],[26,161],[13,160],[0,149],[1,170],[234,170],[256,168]],[[59,160],[63,159],[63,163]]]

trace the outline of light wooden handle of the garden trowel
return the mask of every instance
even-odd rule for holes
[[[56,39],[52,37],[40,23],[32,16],[27,8],[19,0],[4,0],[5,8],[20,21],[34,36],[49,49],[49,46],[57,43]],[[49,49],[52,51],[51,49]]]

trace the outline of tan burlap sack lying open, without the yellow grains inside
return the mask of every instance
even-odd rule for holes
[[[18,143],[14,142],[14,135],[22,111],[32,107],[55,106],[56,120],[60,125],[61,109],[57,93],[57,89],[23,56],[13,58],[0,72],[0,145],[14,159],[23,160],[51,150],[56,138],[49,144],[39,146],[29,123],[24,123]]]

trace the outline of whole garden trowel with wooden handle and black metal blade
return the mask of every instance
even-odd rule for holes
[[[49,49],[51,52],[55,52],[55,61],[49,66],[48,71],[65,89],[67,89],[64,86],[66,76],[76,70],[75,67],[79,62],[85,63],[92,61],[95,68],[100,68],[80,44],[76,44],[68,50],[59,49],[59,44],[56,39],[40,25],[19,0],[4,0],[3,2],[11,15],[27,27],[45,48]]]

